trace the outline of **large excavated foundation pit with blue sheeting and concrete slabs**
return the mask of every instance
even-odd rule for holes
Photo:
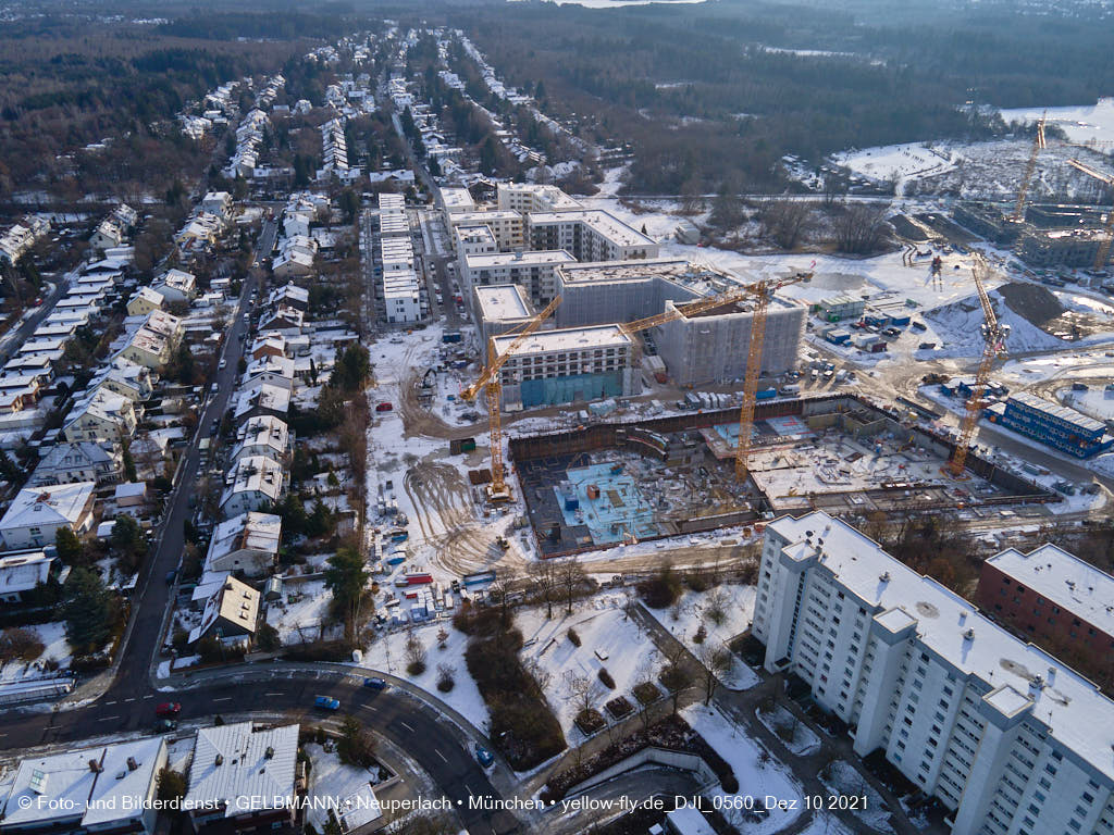
[[[761,522],[823,510],[862,522],[1059,501],[976,454],[971,478],[941,473],[955,442],[896,409],[837,394],[759,403],[747,478],[735,479],[737,412],[614,421],[510,441],[540,552]]]

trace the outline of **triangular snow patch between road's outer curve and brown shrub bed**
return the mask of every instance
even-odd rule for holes
[[[437,633],[442,628],[448,632],[444,649],[438,648],[437,642]],[[426,671],[411,676],[407,671],[408,635],[407,630],[380,633],[364,650],[363,660],[358,666],[368,668],[369,676],[374,675],[373,670],[378,670],[403,678],[441,699],[476,727],[486,727],[488,721],[487,705],[483,704],[479,688],[476,687],[472,677],[468,675],[468,667],[465,665],[468,636],[453,629],[452,623],[449,622],[414,627],[413,635],[426,648]],[[447,664],[455,670],[456,685],[449,692],[441,692],[437,689],[437,667],[441,664]]]

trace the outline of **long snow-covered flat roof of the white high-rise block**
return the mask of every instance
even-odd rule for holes
[[[813,511],[798,519],[776,519],[769,530],[789,541],[784,550],[790,557],[818,557],[819,564],[868,609],[905,610],[917,620],[921,644],[957,670],[993,689],[1009,685],[1024,694],[1033,704],[1033,718],[1046,725],[1054,739],[1114,779],[1114,701],[1092,681],[1015,638],[980,615],[974,603],[918,574],[839,519]],[[1016,707],[1004,704],[1010,703],[1006,696],[999,699],[990,704]]]

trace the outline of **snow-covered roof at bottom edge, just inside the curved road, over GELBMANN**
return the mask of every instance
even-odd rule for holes
[[[255,729],[250,721],[202,728],[184,803],[193,807],[223,803],[225,817],[234,817],[243,813],[237,797],[263,808],[291,802],[297,731],[297,725]]]

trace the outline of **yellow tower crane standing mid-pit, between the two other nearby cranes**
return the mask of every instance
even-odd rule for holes
[[[746,461],[751,451],[751,435],[754,426],[754,406],[758,402],[759,374],[762,371],[762,344],[765,338],[766,310],[770,299],[775,292],[791,284],[801,284],[812,281],[812,273],[798,273],[797,275],[783,278],[763,278],[753,284],[746,284],[737,289],[732,289],[716,296],[701,298],[690,302],[680,307],[674,307],[656,316],[635,320],[619,325],[628,335],[638,331],[646,331],[651,327],[664,325],[682,316],[693,316],[704,311],[714,310],[725,304],[734,304],[752,299],[754,302],[754,315],[751,320],[751,338],[746,351],[746,371],[743,375],[743,405],[739,412],[739,444],[735,448],[735,478],[743,481],[746,478]]]

